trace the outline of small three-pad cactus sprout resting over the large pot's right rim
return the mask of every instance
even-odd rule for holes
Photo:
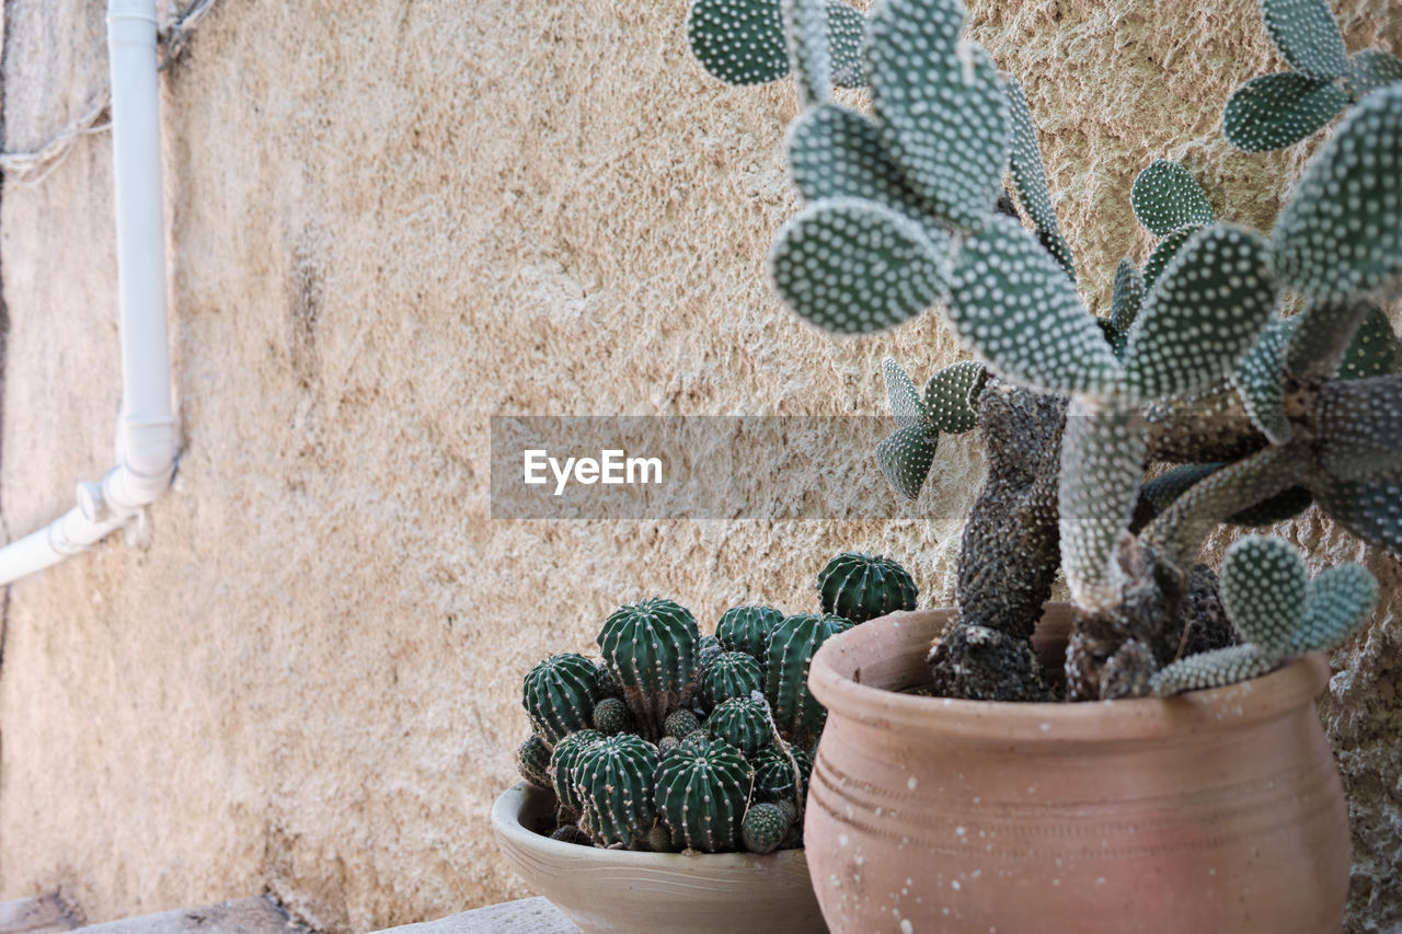
[[[1248,536],[1227,548],[1221,596],[1246,642],[1168,665],[1154,676],[1155,694],[1231,684],[1265,675],[1286,658],[1335,648],[1373,614],[1378,585],[1356,564],[1309,581],[1294,547]]]

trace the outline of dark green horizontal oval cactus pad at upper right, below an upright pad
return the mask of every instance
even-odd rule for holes
[[[1333,81],[1295,72],[1262,74],[1232,91],[1223,108],[1223,136],[1246,153],[1294,146],[1323,129],[1349,105]]]

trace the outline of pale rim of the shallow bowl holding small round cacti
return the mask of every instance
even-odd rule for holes
[[[551,840],[536,833],[524,823],[522,816],[530,811],[540,811],[554,801],[554,795],[543,791],[529,781],[517,781],[515,785],[496,797],[492,804],[492,829],[498,836],[512,840],[522,850],[536,850],[538,853],[554,853],[568,855],[580,861],[582,869],[599,869],[604,867],[618,868],[672,868],[688,872],[704,872],[714,869],[746,869],[761,865],[794,862],[808,867],[808,857],[803,850],[778,850],[775,853],[697,853],[683,855],[680,853],[642,853],[638,850],[604,850],[603,847],[586,847],[564,840]],[[806,868],[803,869],[806,871]]]

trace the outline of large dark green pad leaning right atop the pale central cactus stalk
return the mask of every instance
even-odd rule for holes
[[[1270,244],[1235,224],[1196,233],[1150,290],[1124,349],[1141,400],[1180,395],[1225,373],[1276,307]]]

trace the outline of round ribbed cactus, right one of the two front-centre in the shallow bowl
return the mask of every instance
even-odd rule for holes
[[[656,808],[673,839],[702,853],[736,850],[753,773],[719,739],[683,746],[658,769]]]

